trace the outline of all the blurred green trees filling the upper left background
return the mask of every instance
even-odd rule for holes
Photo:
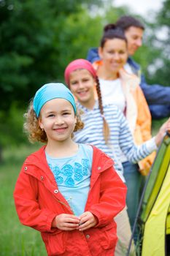
[[[88,25],[94,21],[99,28],[99,20],[88,11],[101,2],[0,1],[1,109],[8,110],[13,100],[23,105],[42,84],[63,79],[67,53],[80,56],[88,48],[84,39],[93,40],[89,32],[94,29]]]

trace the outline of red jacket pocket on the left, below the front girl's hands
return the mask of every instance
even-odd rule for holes
[[[67,231],[57,230],[55,233],[42,234],[49,256],[63,255],[66,251]]]

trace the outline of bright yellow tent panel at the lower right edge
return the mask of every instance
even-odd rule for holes
[[[144,226],[142,256],[165,255],[166,217],[170,205],[170,165],[161,191]]]

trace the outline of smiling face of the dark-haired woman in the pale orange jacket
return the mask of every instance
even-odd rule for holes
[[[108,72],[117,73],[128,58],[127,45],[123,39],[107,39],[98,52]]]

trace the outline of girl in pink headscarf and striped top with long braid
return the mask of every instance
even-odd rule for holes
[[[137,162],[157,149],[165,130],[170,128],[169,120],[161,127],[155,138],[148,140],[141,146],[135,146],[123,113],[114,105],[102,105],[96,71],[89,61],[84,59],[72,61],[66,67],[65,80],[78,100],[77,107],[82,113],[81,118],[85,124],[81,131],[74,133],[74,141],[90,143],[107,153],[109,157],[114,159],[115,169],[121,178],[123,178],[122,151],[129,161]],[[98,101],[95,100],[94,86],[96,86],[98,93]],[[123,181],[125,181],[124,178]],[[125,255],[131,238],[131,228],[126,210],[118,214],[115,220],[117,222],[117,236],[120,241],[117,244],[115,255]]]

